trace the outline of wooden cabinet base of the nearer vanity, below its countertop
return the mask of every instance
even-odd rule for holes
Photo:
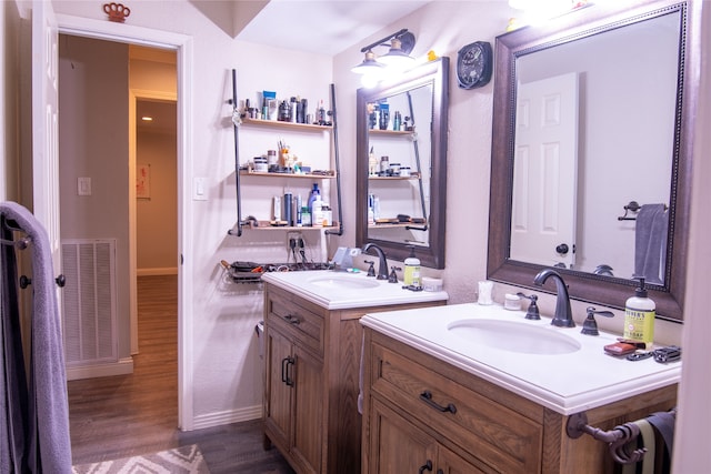
[[[567,416],[365,329],[363,474],[612,473],[605,443]],[[587,412],[602,430],[675,404],[677,386]],[[402,466],[407,466],[402,468]]]

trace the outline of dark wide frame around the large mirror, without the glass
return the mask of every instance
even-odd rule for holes
[[[623,2],[624,3],[624,2]],[[679,63],[679,90],[674,128],[674,157],[670,194],[667,276],[664,285],[650,285],[649,295],[657,303],[657,315],[681,322],[685,291],[689,210],[695,102],[698,99],[700,6],[694,0],[647,0],[629,4],[590,6],[551,20],[542,27],[528,27],[497,37],[495,81],[493,94],[493,133],[491,150],[491,195],[489,211],[490,280],[541,290],[533,285],[544,265],[509,259],[511,242],[511,204],[515,130],[515,59],[535,50],[554,47],[600,32],[632,24],[659,14],[681,12],[683,53]],[[560,271],[570,296],[594,304],[623,309],[638,285],[634,280],[597,275],[568,269]],[[554,292],[547,284],[545,292]]]

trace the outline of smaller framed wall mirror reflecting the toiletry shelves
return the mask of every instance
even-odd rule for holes
[[[449,58],[357,97],[357,244],[443,269]]]

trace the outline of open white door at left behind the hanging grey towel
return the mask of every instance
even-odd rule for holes
[[[49,234],[54,275],[61,272],[59,233],[59,29],[49,1],[32,1],[32,200]],[[59,305],[61,310],[61,304]]]

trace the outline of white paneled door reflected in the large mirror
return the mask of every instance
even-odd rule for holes
[[[578,75],[517,88],[511,259],[572,268],[575,262]]]

